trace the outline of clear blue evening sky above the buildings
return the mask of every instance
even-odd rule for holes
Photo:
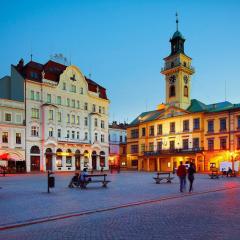
[[[20,58],[63,53],[107,88],[110,120],[131,121],[165,101],[160,74],[175,13],[196,73],[191,97],[240,103],[238,0],[0,0],[0,76]]]

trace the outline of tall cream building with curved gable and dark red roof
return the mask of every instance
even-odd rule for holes
[[[105,88],[78,67],[54,61],[24,65],[20,60],[8,81],[13,86],[8,97],[25,104],[28,172],[108,169]]]

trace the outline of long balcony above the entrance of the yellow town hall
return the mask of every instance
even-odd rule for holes
[[[180,148],[180,149],[166,149],[158,151],[145,151],[144,156],[160,156],[160,155],[171,155],[171,154],[186,154],[186,153],[199,153],[202,152],[204,148]]]

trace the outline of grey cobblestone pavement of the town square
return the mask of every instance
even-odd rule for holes
[[[69,174],[56,175],[56,188],[46,193],[45,175],[0,178],[0,225],[36,218],[109,208],[121,204],[182,196],[178,179],[157,185],[153,173],[110,174],[107,189],[68,189]],[[0,239],[240,239],[240,179],[211,180],[196,175],[196,192],[147,205],[57,220],[0,232]]]

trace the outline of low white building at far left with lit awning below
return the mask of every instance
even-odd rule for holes
[[[10,172],[24,172],[24,102],[0,99],[0,165]]]

